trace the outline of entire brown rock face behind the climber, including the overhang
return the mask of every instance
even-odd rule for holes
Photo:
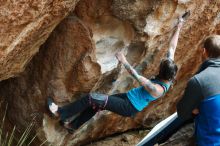
[[[187,80],[201,63],[202,40],[220,33],[220,3],[77,2],[2,2],[0,97],[9,103],[7,117],[11,123],[24,128],[34,118],[40,140],[47,139],[54,146],[72,146],[131,129],[151,128],[173,113]],[[136,87],[137,83],[114,57],[122,48],[126,48],[128,61],[140,73],[148,78],[156,75],[177,17],[186,10],[191,11],[191,16],[181,30],[175,56],[179,67],[177,83],[165,97],[135,118],[102,111],[72,135],[59,126],[57,119],[48,116],[47,96],[62,106],[90,91],[114,94]],[[177,144],[186,141],[175,138]]]

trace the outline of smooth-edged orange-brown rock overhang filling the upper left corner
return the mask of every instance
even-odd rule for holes
[[[2,0],[0,5],[0,80],[24,71],[54,27],[77,0]]]

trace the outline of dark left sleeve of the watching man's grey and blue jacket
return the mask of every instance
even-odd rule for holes
[[[192,111],[198,107],[202,97],[200,84],[196,77],[192,77],[187,84],[183,97],[177,103],[178,116],[183,120],[192,118]]]

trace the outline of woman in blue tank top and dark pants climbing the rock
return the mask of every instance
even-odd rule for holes
[[[122,52],[116,54],[116,58],[125,69],[138,81],[140,87],[133,88],[127,93],[105,95],[100,93],[89,93],[88,95],[70,104],[59,107],[51,97],[48,97],[48,109],[59,117],[61,123],[69,132],[78,129],[83,123],[92,118],[99,110],[109,110],[125,117],[133,117],[142,111],[151,101],[163,96],[170,88],[177,73],[174,63],[174,54],[179,38],[180,29],[184,17],[178,19],[176,30],[169,43],[167,57],[160,63],[159,74],[155,79],[147,79],[139,75],[128,63]],[[80,113],[80,114],[79,114]],[[79,114],[74,120],[69,120],[73,115]]]

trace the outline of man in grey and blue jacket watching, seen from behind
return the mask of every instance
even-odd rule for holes
[[[190,145],[220,145],[220,35],[207,37],[201,52],[203,63],[177,103],[178,117],[145,141],[144,146],[164,143],[184,125],[193,122],[195,132],[188,139]]]

